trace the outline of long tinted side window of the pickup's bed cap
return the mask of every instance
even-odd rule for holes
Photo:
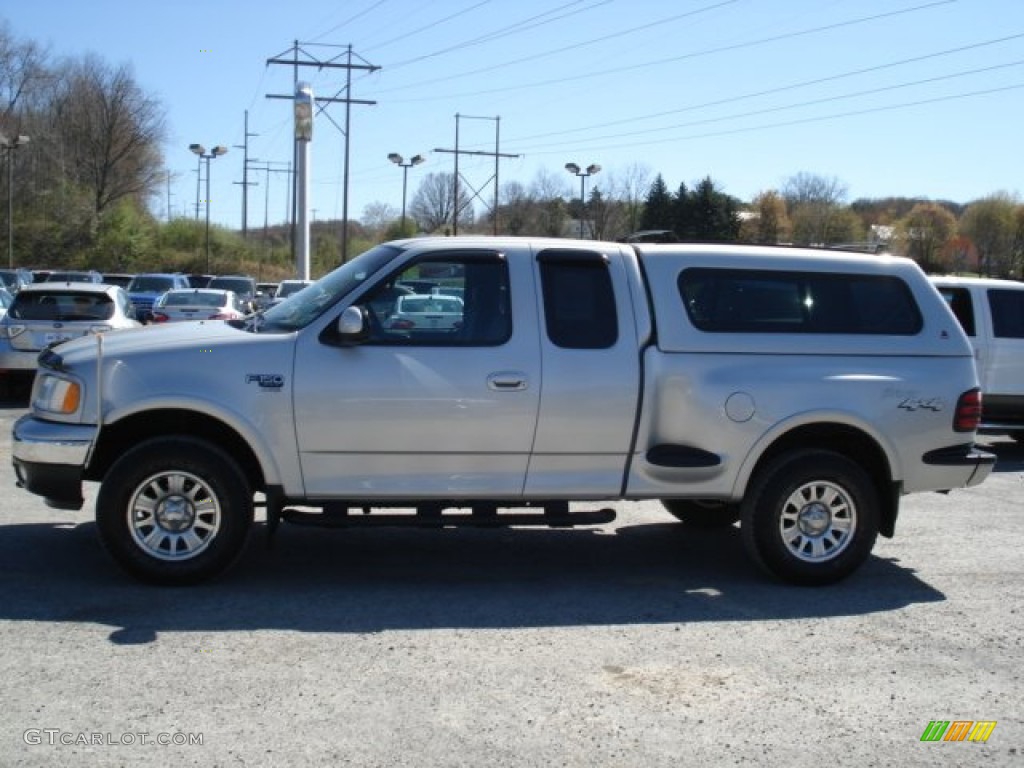
[[[914,336],[924,326],[910,289],[893,275],[691,267],[678,287],[706,333]]]

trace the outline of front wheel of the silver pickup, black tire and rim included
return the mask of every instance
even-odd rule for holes
[[[126,452],[96,499],[103,546],[153,584],[196,584],[222,572],[242,553],[252,520],[253,492],[238,463],[194,437],[157,437]]]

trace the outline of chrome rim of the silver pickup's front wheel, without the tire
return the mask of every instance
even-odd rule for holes
[[[135,544],[160,560],[189,560],[210,546],[222,512],[210,486],[188,472],[151,475],[132,492],[128,525]]]

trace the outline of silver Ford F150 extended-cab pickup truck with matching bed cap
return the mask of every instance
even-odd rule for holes
[[[826,584],[893,535],[902,495],[994,461],[963,330],[887,256],[408,240],[245,321],[39,365],[19,484],[80,509],[99,482],[102,543],[164,584],[234,561],[257,495],[271,531],[600,524],[614,512],[569,502],[657,499],[693,526],[738,520],[768,572]]]

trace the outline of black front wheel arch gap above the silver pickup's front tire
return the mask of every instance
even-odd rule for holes
[[[246,474],[254,490],[266,486],[266,472],[250,442],[234,428],[208,414],[187,409],[141,411],[104,424],[89,460],[84,479],[102,480],[117,459],[128,449],[152,437],[185,435],[220,446]]]

